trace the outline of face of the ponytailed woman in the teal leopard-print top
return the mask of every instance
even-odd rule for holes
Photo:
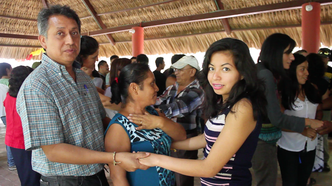
[[[154,105],[156,103],[158,91],[159,88],[156,85],[154,75],[149,70],[147,73],[147,78],[143,81],[141,89],[138,91],[138,98],[136,100],[144,102],[144,105],[147,106]]]

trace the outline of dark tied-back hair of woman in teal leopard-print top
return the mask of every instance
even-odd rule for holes
[[[136,83],[142,89],[143,87],[141,87],[141,85],[147,78],[147,72],[149,70],[149,65],[145,63],[131,63],[126,65],[120,72],[118,82],[113,81],[111,84],[111,103],[118,105],[122,102],[125,104],[128,98],[128,87],[130,83]],[[122,100],[121,96],[124,100]]]

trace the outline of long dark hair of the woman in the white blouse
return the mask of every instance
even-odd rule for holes
[[[300,89],[296,76],[296,67],[305,62],[307,59],[301,54],[294,53],[295,59],[290,64],[290,69],[287,70],[289,78],[282,79],[279,82],[279,90],[281,92],[281,104],[287,110],[293,110],[294,104],[298,94],[302,91],[311,103],[321,103],[322,97],[319,91],[311,84],[308,79]],[[310,66],[309,66],[310,68]]]

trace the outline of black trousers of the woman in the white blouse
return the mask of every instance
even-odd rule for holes
[[[315,156],[316,149],[308,152],[293,152],[278,146],[278,161],[283,186],[306,186]]]

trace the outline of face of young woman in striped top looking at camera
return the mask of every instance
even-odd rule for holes
[[[223,100],[228,98],[233,85],[241,78],[230,52],[215,52],[211,55],[207,79],[214,92],[222,95]]]

